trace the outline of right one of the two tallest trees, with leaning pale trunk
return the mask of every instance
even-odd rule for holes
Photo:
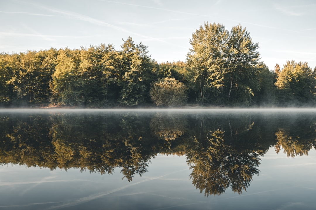
[[[234,94],[234,103],[250,105],[253,91],[258,90],[258,64],[260,54],[258,43],[253,43],[246,28],[234,26],[228,37],[225,60],[225,86],[227,101],[231,103]]]

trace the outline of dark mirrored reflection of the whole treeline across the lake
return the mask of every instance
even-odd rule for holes
[[[54,113],[0,115],[0,164],[105,174],[148,170],[158,153],[185,155],[205,196],[242,193],[270,147],[289,156],[316,148],[313,115]]]

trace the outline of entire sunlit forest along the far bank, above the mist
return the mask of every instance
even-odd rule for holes
[[[131,37],[79,49],[0,54],[0,106],[115,107],[185,104],[314,106],[316,67],[289,60],[270,70],[241,25],[205,22],[185,62],[157,63]],[[282,64],[281,64],[282,65]]]

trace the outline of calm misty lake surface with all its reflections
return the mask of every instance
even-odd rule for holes
[[[0,110],[2,209],[315,209],[316,110]]]

